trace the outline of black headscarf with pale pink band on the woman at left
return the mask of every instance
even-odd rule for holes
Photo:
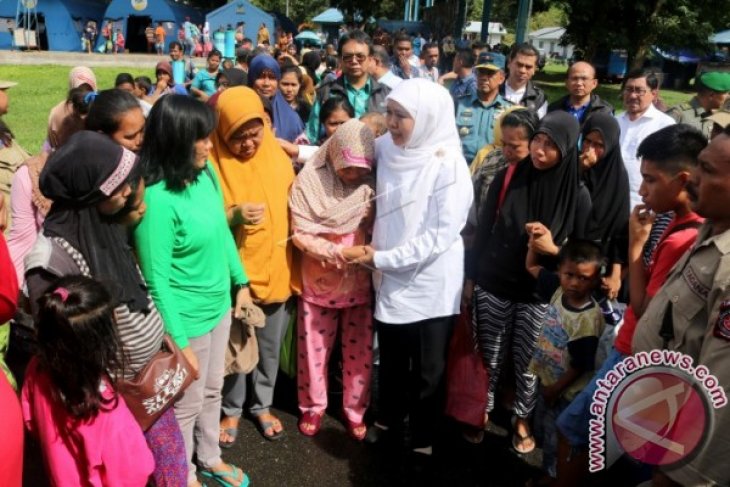
[[[40,190],[53,200],[43,223],[48,237],[61,237],[81,252],[91,276],[108,286],[115,305],[149,309],[147,286],[137,270],[124,227],[99,213],[97,205],[138,176],[139,160],[109,137],[74,134],[48,159]]]

